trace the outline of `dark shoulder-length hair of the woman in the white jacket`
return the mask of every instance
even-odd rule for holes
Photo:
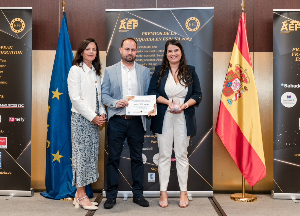
[[[96,43],[96,41],[92,38],[85,39],[79,44],[76,55],[73,59],[73,65],[76,65],[78,67],[82,67],[82,65],[80,65],[80,63],[83,61],[82,54],[83,54],[83,51],[86,49],[86,47],[88,46],[89,43],[96,44],[96,47],[97,47],[96,58],[91,63],[94,66],[97,75],[100,76],[101,75],[102,64],[100,62],[99,48],[98,48],[98,44]]]

